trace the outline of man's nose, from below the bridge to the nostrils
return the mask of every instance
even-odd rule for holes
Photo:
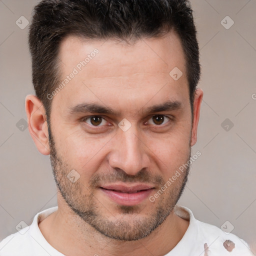
[[[127,131],[118,130],[112,148],[108,154],[108,163],[112,168],[122,169],[126,174],[136,175],[149,166],[146,141],[139,138],[138,132],[131,127]]]

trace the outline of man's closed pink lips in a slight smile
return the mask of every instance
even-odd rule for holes
[[[112,201],[120,205],[132,206],[145,200],[154,189],[147,184],[123,185],[109,184],[100,186],[100,190]]]

